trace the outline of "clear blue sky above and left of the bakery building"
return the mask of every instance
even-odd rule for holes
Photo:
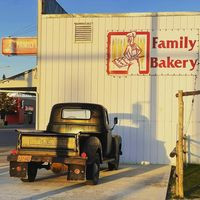
[[[200,11],[200,0],[58,0],[68,13]],[[0,0],[0,38],[36,36],[37,0]],[[0,55],[0,79],[36,65],[34,56]]]

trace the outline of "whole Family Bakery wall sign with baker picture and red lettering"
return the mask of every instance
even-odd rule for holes
[[[198,30],[109,32],[109,75],[193,75],[198,68]]]

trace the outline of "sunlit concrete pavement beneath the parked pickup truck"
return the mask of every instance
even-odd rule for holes
[[[39,170],[36,181],[23,183],[9,177],[9,166],[0,164],[0,199],[23,200],[164,200],[171,167],[168,165],[120,165],[117,171],[103,168],[96,186],[69,182],[66,175]]]

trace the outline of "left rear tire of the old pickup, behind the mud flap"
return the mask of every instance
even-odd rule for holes
[[[34,163],[34,162],[28,163],[27,175],[25,178],[21,178],[21,181],[34,182],[37,175],[37,170],[38,170],[37,163]]]

